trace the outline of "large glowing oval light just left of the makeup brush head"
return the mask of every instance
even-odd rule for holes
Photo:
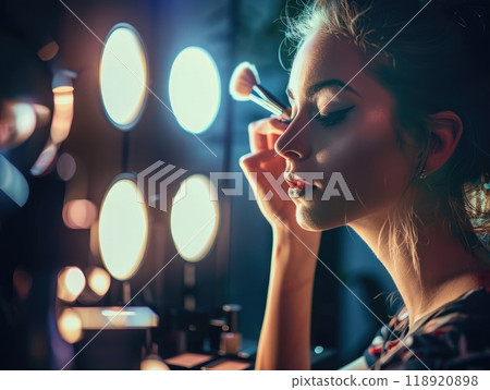
[[[206,50],[188,47],[179,53],[170,72],[169,95],[184,130],[197,134],[212,124],[221,103],[221,81]]]

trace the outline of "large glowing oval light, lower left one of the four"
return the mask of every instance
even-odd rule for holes
[[[99,215],[99,248],[103,265],[118,280],[133,277],[146,252],[148,215],[136,182],[115,181],[107,192]]]

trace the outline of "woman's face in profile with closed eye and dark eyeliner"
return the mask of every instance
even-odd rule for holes
[[[346,39],[317,33],[293,63],[287,88],[293,120],[275,149],[287,172],[313,183],[313,193],[308,186],[290,191],[305,229],[363,224],[376,215],[383,220],[415,169],[416,150],[402,150],[396,142],[393,97],[367,69],[359,73],[369,60]],[[342,182],[354,200],[346,199]]]

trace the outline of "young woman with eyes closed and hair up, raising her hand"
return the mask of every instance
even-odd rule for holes
[[[489,369],[488,1],[317,0],[287,36],[291,120],[252,123],[241,160],[274,237],[256,367],[309,368],[320,232],[348,226],[405,307],[344,368]]]

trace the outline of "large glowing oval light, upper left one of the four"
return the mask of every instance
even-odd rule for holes
[[[138,120],[146,100],[147,64],[136,29],[120,23],[112,27],[100,60],[100,93],[111,122],[130,130]]]

